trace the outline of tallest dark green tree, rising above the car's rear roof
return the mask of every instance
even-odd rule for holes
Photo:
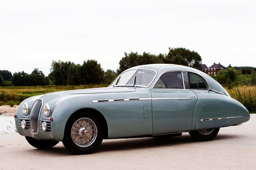
[[[186,65],[192,68],[201,69],[201,56],[186,48],[170,48],[169,53],[163,59],[164,63]]]

